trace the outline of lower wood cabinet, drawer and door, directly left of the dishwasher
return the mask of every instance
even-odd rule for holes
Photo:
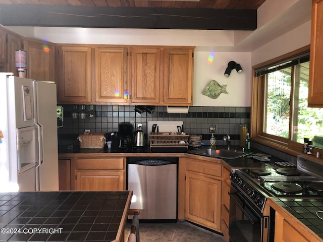
[[[77,191],[125,190],[125,158],[78,158],[75,161]]]

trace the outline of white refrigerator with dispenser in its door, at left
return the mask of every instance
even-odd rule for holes
[[[56,105],[55,83],[0,73],[0,192],[59,190]]]

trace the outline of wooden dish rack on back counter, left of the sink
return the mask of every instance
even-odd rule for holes
[[[186,148],[188,149],[189,135],[181,133],[155,133],[149,134],[150,148]]]

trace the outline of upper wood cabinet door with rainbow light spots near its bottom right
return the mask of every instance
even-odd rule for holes
[[[95,101],[128,102],[127,48],[95,48]]]

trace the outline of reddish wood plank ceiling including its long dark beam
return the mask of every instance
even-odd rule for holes
[[[190,0],[194,1],[194,0]],[[265,0],[0,0],[4,26],[254,30]]]

